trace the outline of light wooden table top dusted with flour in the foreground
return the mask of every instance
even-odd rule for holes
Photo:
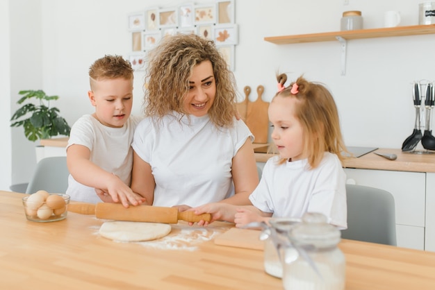
[[[120,243],[99,236],[104,221],[95,216],[27,221],[23,196],[0,191],[0,289],[282,289],[263,271],[262,250],[213,243],[230,223],[179,223],[161,241]],[[350,240],[339,246],[346,289],[435,289],[435,253]]]

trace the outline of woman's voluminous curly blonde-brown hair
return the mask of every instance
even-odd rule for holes
[[[145,115],[161,119],[173,111],[188,114],[183,98],[196,65],[210,60],[216,95],[208,116],[216,126],[232,126],[236,113],[236,81],[215,44],[198,35],[165,37],[149,54],[145,76]]]

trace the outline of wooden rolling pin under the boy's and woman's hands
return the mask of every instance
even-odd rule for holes
[[[179,212],[177,207],[155,207],[151,205],[130,206],[120,203],[74,203],[67,206],[69,212],[95,214],[98,219],[116,221],[147,221],[150,223],[178,223],[181,221],[211,221],[211,214],[196,215],[193,212]]]

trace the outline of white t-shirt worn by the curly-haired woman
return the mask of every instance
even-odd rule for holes
[[[232,159],[247,138],[254,140],[249,128],[236,119],[232,128],[216,128],[208,115],[189,121],[174,114],[162,121],[145,118],[133,139],[156,181],[153,204],[195,207],[232,196]]]

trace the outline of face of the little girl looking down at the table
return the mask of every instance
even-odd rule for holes
[[[269,105],[269,120],[273,125],[272,140],[279,155],[291,161],[308,157],[302,153],[304,130],[295,118],[296,102],[292,97],[276,96]]]

